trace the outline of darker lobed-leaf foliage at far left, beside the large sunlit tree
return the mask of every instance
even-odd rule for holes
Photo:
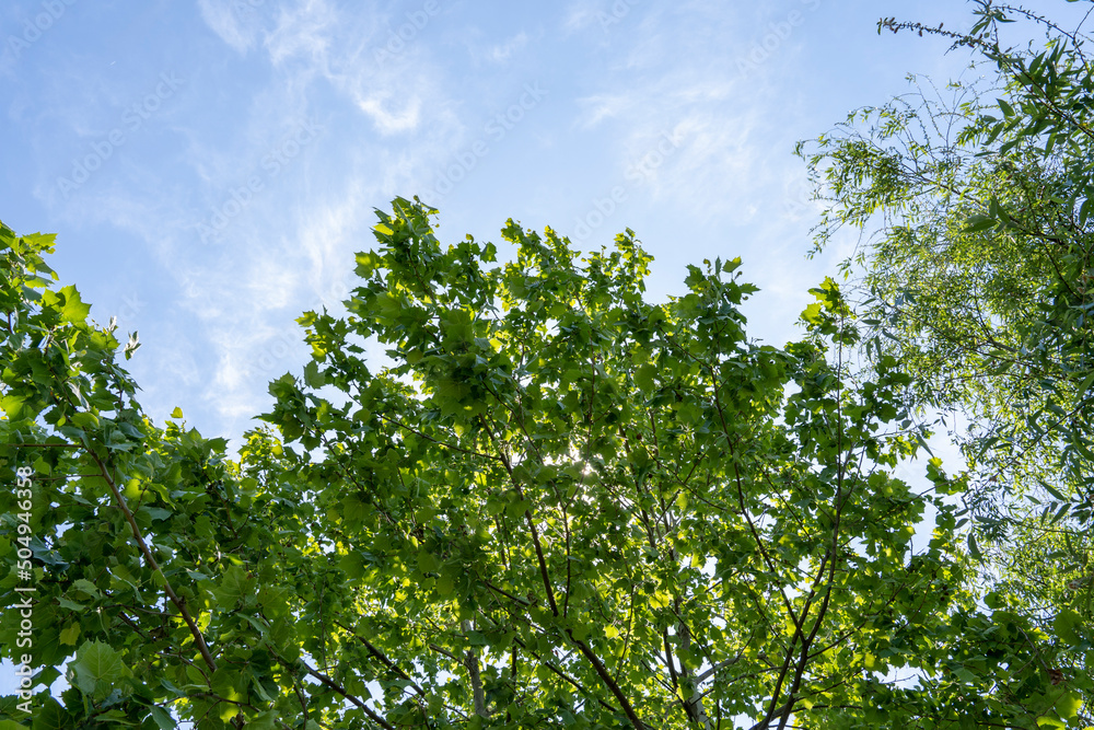
[[[123,345],[113,322],[88,321],[73,287],[51,287],[53,236],[0,228],[0,460],[13,485],[0,498],[0,590],[5,617],[33,626],[5,621],[0,645],[43,668],[38,686],[68,662],[70,685],[59,702],[36,697],[34,727],[167,728],[177,698],[184,716],[230,719],[242,698],[279,694],[296,670],[261,638],[289,617],[251,509],[257,484],[223,440],[143,416],[116,357],[130,357],[136,334]],[[272,628],[236,610],[259,601]],[[20,699],[3,711],[26,719]]]

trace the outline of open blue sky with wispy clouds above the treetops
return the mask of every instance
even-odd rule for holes
[[[1058,4],[1058,3],[1056,3]],[[512,217],[589,250],[629,227],[684,267],[744,258],[752,335],[794,336],[807,260],[796,140],[967,53],[882,15],[954,0],[15,0],[0,8],[0,219],[58,233],[92,315],[140,332],[158,420],[238,437],[299,371],[293,320],[336,305],[373,209],[421,195],[442,240]],[[850,245],[850,242],[845,242]],[[238,443],[238,441],[234,441]]]

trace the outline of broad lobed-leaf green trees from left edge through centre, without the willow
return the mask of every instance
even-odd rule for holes
[[[831,281],[778,349],[746,338],[736,259],[652,304],[630,231],[579,258],[509,221],[491,266],[433,215],[380,213],[347,314],[305,314],[312,361],[270,385],[279,434],[237,457],[181,412],[154,425],[117,361],[136,335],[55,289],[49,236],[0,229],[0,468],[26,489],[0,497],[0,603],[34,629],[0,647],[45,668],[35,727],[1076,717],[1058,648],[969,590],[963,482],[889,473],[926,436],[911,379],[892,357],[851,376]]]

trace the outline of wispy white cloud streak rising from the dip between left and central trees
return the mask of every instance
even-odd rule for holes
[[[233,25],[234,19],[202,12],[236,50],[254,45],[256,36]],[[202,358],[202,397],[229,430],[237,432],[242,419],[263,408],[269,379],[306,350],[296,314],[337,308],[345,298],[352,252],[368,245],[372,205],[412,194],[409,183],[443,160],[462,134],[443,88],[445,67],[428,44],[409,42],[377,65],[373,51],[385,27],[376,13],[358,8],[350,13],[325,0],[287,4],[260,34],[271,81],[252,90],[251,111],[231,141],[191,143],[189,166],[201,185],[191,197],[205,200],[199,207],[222,208],[248,175],[264,184],[217,242],[173,255],[182,308],[200,323],[210,350]],[[281,146],[287,129],[311,118],[318,100],[324,108],[338,108],[340,100],[372,130],[361,130],[356,142],[340,130],[339,142],[347,146],[340,150],[327,146],[327,135],[338,131],[322,132],[282,172],[267,174],[260,161]],[[339,124],[337,115],[324,124]],[[384,139],[396,135],[416,135],[416,141],[400,149]],[[196,237],[185,225],[178,230],[181,239]]]

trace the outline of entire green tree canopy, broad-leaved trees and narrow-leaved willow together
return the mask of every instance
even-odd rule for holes
[[[1001,47],[1015,14],[1047,50]],[[990,2],[950,37],[998,101],[803,148],[818,245],[877,234],[863,300],[826,279],[781,348],[740,259],[651,302],[629,230],[510,220],[498,262],[398,198],[229,453],[0,224],[0,730],[1094,722],[1090,69]],[[929,408],[970,461],[912,485]]]

